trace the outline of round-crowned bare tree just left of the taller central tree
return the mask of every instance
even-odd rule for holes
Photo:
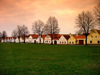
[[[39,43],[41,44],[41,36],[43,34],[43,31],[44,31],[44,23],[43,21],[41,20],[37,20],[33,23],[32,25],[32,30],[33,30],[33,33],[36,33],[39,35]]]

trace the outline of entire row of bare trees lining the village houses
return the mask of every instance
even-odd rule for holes
[[[87,35],[90,32],[91,29],[93,29],[95,26],[100,27],[100,3],[97,4],[94,8],[95,18],[90,11],[83,11],[82,13],[78,14],[76,20],[76,27],[79,29],[78,33],[84,33],[86,35],[86,45],[87,45]],[[41,36],[42,34],[51,34],[51,44],[53,44],[53,34],[58,34],[60,31],[60,28],[58,27],[58,20],[55,17],[49,17],[47,20],[47,23],[44,24],[43,21],[37,20],[32,25],[32,31],[33,34],[38,34],[40,38],[41,43]],[[24,37],[24,43],[25,43],[25,36],[29,34],[27,26],[18,25],[15,30],[12,32],[12,37],[19,38],[20,43],[20,37]],[[5,39],[7,37],[7,34],[5,31],[0,33],[0,37]]]

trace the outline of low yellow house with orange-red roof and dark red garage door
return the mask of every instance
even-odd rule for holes
[[[84,45],[85,44],[85,36],[77,35],[77,36],[70,36],[68,39],[68,44],[78,44],[78,45]]]

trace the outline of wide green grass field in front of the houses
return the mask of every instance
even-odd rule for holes
[[[0,43],[0,75],[100,75],[100,46]]]

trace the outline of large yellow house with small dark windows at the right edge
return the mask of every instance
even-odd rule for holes
[[[87,36],[87,44],[100,44],[100,30],[92,29]]]

